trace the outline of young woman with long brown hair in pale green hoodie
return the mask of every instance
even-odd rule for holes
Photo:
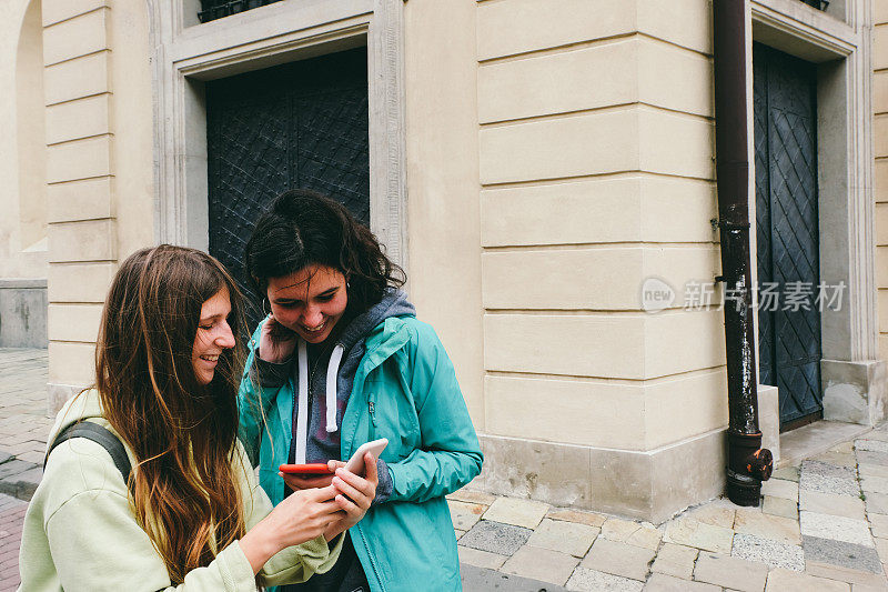
[[[65,404],[50,442],[78,422],[104,427],[132,471],[124,480],[111,448],[85,438],[50,449],[24,520],[20,591],[246,592],[335,562],[375,483],[341,473],[360,491],[332,484],[272,510],[236,439],[240,315],[232,278],[205,253],[161,245],[121,265],[95,388]]]

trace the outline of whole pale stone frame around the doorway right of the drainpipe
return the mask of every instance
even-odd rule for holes
[[[820,317],[824,419],[871,424],[881,419],[885,399],[876,313],[871,6],[868,0],[847,0],[824,13],[794,0],[748,0],[747,14],[751,24],[747,63],[751,64],[755,40],[817,64],[820,280],[847,285],[841,309],[825,310]],[[749,68],[754,162],[751,76]],[[751,167],[749,194],[750,220],[755,220]],[[755,241],[750,249],[755,261]],[[779,425],[779,419],[771,417],[778,414],[776,388],[761,385],[759,391],[761,423]]]

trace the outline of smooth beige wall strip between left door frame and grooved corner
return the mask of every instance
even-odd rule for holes
[[[473,2],[404,4],[410,292],[485,427]]]

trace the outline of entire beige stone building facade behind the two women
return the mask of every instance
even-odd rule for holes
[[[817,279],[848,288],[817,317],[809,388],[824,419],[869,424],[886,399],[888,1],[811,3],[746,0],[749,155],[754,53],[803,60]],[[48,280],[50,408],[92,379],[118,262],[160,242],[213,251],[220,81],[364,51],[369,221],[452,354],[486,454],[475,485],[655,522],[723,492],[723,315],[684,305],[719,272],[710,2],[202,8],[0,7],[16,130],[0,167],[18,181],[0,189],[0,282]],[[652,278],[675,289],[656,314]],[[778,391],[759,388],[775,452]]]

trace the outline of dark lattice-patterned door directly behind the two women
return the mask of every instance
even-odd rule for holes
[[[243,250],[278,194],[307,188],[370,222],[366,49],[206,84],[210,252],[251,298]]]

